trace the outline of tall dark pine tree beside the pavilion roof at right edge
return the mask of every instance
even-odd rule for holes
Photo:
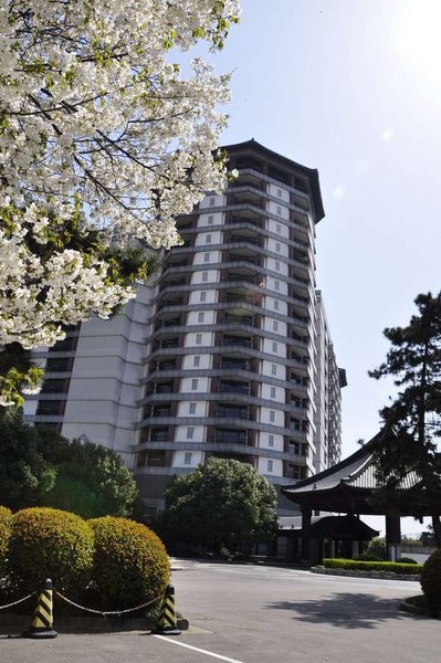
[[[386,361],[369,375],[376,379],[395,376],[400,388],[390,406],[380,411],[392,431],[379,467],[387,487],[397,486],[411,471],[421,480],[414,494],[416,515],[432,515],[437,545],[441,546],[441,293],[420,294],[414,301],[418,315],[407,327],[391,327],[384,334],[391,343]],[[385,439],[387,435],[385,436]]]

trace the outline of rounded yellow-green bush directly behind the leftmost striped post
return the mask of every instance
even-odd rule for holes
[[[93,532],[80,516],[38,507],[14,515],[9,566],[21,590],[34,591],[51,578],[56,589],[77,596],[92,564]]]

